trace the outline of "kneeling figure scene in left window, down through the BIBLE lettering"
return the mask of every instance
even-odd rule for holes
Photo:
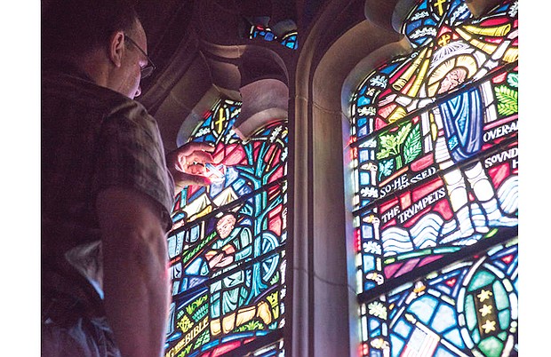
[[[268,187],[169,236],[167,355],[234,348],[283,327],[285,190]]]

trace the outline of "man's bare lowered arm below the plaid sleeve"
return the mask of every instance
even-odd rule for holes
[[[170,304],[166,238],[151,198],[126,188],[98,195],[108,322],[124,357],[158,357]]]

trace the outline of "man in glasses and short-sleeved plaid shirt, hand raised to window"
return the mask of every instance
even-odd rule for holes
[[[210,147],[165,156],[133,100],[154,67],[131,4],[43,10],[43,355],[161,356],[173,195],[209,184]]]

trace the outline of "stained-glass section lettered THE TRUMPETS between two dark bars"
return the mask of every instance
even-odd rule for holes
[[[516,142],[500,147],[363,211],[356,218],[359,291],[517,226],[516,150]]]

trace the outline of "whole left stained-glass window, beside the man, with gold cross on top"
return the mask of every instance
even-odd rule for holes
[[[172,305],[166,356],[283,351],[287,125],[240,138],[241,103],[221,99],[190,141],[215,146],[211,186],[176,197],[168,237]],[[245,355],[246,353],[244,353]]]

